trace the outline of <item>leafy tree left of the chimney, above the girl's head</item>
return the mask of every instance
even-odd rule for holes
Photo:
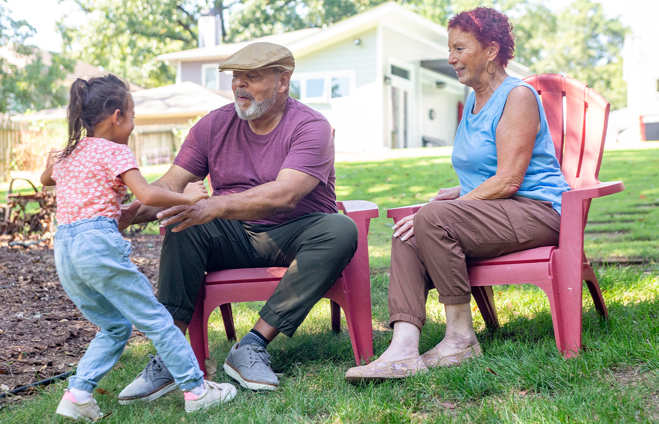
[[[88,14],[80,27],[59,22],[65,51],[147,88],[171,84],[175,69],[161,53],[196,47],[198,5],[188,0],[76,0]]]

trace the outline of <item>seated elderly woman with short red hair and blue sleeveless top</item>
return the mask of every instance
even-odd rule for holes
[[[455,135],[457,187],[440,189],[393,226],[389,281],[391,345],[346,380],[399,379],[482,355],[471,317],[466,258],[558,245],[561,194],[556,160],[536,91],[505,72],[513,58],[507,16],[486,7],[449,20],[449,64],[473,88]],[[423,355],[418,342],[428,290],[446,312],[444,340]]]

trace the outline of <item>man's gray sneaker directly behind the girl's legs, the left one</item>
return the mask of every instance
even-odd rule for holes
[[[144,367],[144,371],[119,393],[119,405],[128,405],[140,400],[156,400],[178,387],[160,355],[149,355],[149,357],[151,359]]]

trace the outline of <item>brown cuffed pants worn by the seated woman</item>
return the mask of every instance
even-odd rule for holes
[[[467,257],[558,245],[561,217],[550,202],[513,196],[497,200],[441,200],[416,212],[414,233],[391,241],[389,325],[426,322],[428,290],[440,302],[468,303]]]

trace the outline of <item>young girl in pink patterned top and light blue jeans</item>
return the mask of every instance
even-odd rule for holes
[[[68,115],[67,147],[49,158],[41,179],[43,185],[57,182],[57,275],[100,331],[69,378],[57,413],[85,421],[103,416],[92,391],[121,357],[133,325],[154,342],[185,392],[186,412],[233,399],[233,385],[203,379],[190,344],[130,262],[130,241],[117,229],[127,186],[140,202],[167,207],[208,198],[203,183],[172,193],[146,182],[127,146],[134,127],[132,96],[117,76],[78,78],[71,86]]]

